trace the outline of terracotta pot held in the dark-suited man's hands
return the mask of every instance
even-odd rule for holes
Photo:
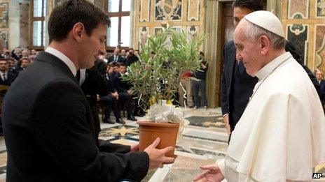
[[[157,137],[160,137],[158,149],[164,149],[167,146],[173,146],[174,149],[166,153],[167,157],[174,156],[174,150],[179,132],[179,123],[155,123],[150,121],[137,121],[139,124],[139,143],[140,151],[144,151],[151,145]]]

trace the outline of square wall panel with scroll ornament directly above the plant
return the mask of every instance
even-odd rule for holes
[[[181,20],[182,0],[155,0],[155,21]]]

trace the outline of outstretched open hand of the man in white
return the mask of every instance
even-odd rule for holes
[[[223,176],[218,165],[215,165],[215,164],[214,165],[205,165],[205,166],[200,166],[200,168],[207,170],[207,171],[198,175],[198,176],[195,176],[193,181],[219,182],[219,181],[223,181],[223,179],[225,179],[225,177]]]

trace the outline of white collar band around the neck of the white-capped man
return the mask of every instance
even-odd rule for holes
[[[286,52],[284,54],[281,54],[280,56],[277,56],[276,59],[273,59],[272,61],[270,61],[270,63],[261,68],[261,70],[258,70],[258,72],[255,74],[256,77],[258,77],[258,80],[265,79],[265,77],[270,75],[272,71],[277,68],[277,66],[286,61],[286,59],[289,59],[291,56],[292,55],[290,52]]]

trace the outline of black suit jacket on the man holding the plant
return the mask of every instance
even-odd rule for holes
[[[2,121],[9,182],[140,181],[148,171],[147,153],[99,146],[83,91],[52,54],[41,53],[18,75],[4,98]]]

